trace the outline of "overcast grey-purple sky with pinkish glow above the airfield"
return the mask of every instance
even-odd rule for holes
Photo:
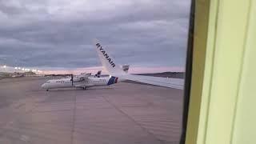
[[[0,65],[101,66],[93,39],[120,64],[185,64],[190,0],[0,0]]]

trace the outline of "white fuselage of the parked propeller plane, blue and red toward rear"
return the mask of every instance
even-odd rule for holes
[[[120,82],[120,80],[116,77],[103,77],[103,78],[94,78],[89,77],[85,78],[82,81],[75,80],[72,81],[70,78],[61,78],[61,79],[53,79],[49,80],[46,83],[42,84],[42,88],[44,89],[54,89],[54,88],[67,88],[67,87],[92,87],[92,86],[109,86],[114,83]]]

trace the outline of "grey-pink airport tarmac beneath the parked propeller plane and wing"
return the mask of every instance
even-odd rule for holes
[[[124,82],[46,91],[46,80],[0,80],[0,144],[178,144],[182,90]]]

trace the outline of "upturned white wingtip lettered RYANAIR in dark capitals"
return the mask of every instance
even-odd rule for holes
[[[110,56],[110,54],[106,51],[106,47],[102,46],[98,40],[94,40],[94,45],[102,62],[102,66],[108,71],[110,74],[126,74],[125,71],[122,70],[118,66],[118,64],[114,61],[114,58]]]

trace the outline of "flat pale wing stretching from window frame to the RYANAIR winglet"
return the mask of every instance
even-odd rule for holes
[[[144,76],[144,75],[114,75],[114,77],[131,80],[134,82],[142,82],[154,86],[164,86],[174,89],[183,90],[184,79],[182,78],[162,78],[162,77],[153,77],[153,76]]]

